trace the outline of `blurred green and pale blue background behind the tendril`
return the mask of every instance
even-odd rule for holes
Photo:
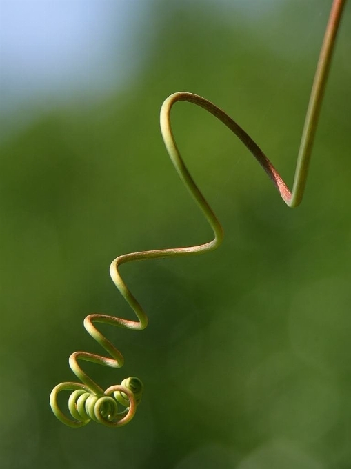
[[[112,259],[211,237],[163,147],[163,99],[217,103],[291,185],[331,3],[0,0],[1,468],[350,468],[350,4],[301,207],[175,106],[225,241],[123,268],[149,326],[106,328],[126,364],[86,369],[143,380],[128,426],[68,428],[48,403],[70,353],[101,352],[83,318],[133,318]]]

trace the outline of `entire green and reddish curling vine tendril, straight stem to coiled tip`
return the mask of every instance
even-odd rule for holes
[[[71,427],[80,427],[89,423],[90,420],[94,420],[110,427],[122,426],[134,417],[137,405],[141,401],[143,385],[138,378],[130,377],[128,379],[124,379],[121,384],[110,386],[110,388],[103,390],[86,374],[86,372],[81,369],[78,364],[78,361],[91,361],[92,363],[97,363],[111,368],[121,368],[121,366],[123,366],[123,355],[121,355],[121,352],[119,352],[119,350],[117,350],[117,348],[101,334],[95,326],[96,323],[105,323],[110,326],[133,330],[143,330],[148,325],[146,312],[121,278],[121,275],[119,274],[119,266],[131,261],[200,254],[201,252],[217,248],[223,239],[223,229],[221,224],[192,179],[188,169],[185,167],[183,159],[181,158],[174,141],[170,125],[170,110],[173,104],[177,101],[188,101],[204,108],[213,114],[214,117],[217,117],[217,119],[232,130],[248,150],[250,150],[262,166],[263,170],[265,170],[266,174],[268,174],[270,179],[272,179],[272,182],[279,191],[283,201],[285,201],[289,207],[298,206],[302,200],[303,192],[305,190],[308,164],[310,162],[310,155],[312,152],[312,143],[314,141],[314,134],[317,128],[317,120],[321,109],[323,92],[325,90],[325,83],[328,77],[334,43],[344,6],[345,0],[334,0],[332,3],[332,9],[330,11],[327,28],[325,30],[325,36],[310,95],[310,103],[305,117],[305,125],[297,157],[294,184],[291,192],[270,160],[265,157],[261,148],[259,148],[252,138],[236,122],[234,122],[228,114],[225,114],[223,110],[217,108],[217,106],[210,103],[210,101],[197,96],[197,94],[188,92],[174,93],[164,101],[161,108],[161,132],[164,143],[179,177],[185,184],[185,187],[189,190],[194,200],[198,203],[199,208],[208,220],[208,223],[210,223],[214,233],[214,239],[208,243],[199,244],[198,246],[132,252],[114,259],[110,266],[110,275],[119,292],[121,292],[121,295],[123,295],[124,299],[126,299],[127,303],[137,315],[138,321],[130,321],[119,317],[97,314],[88,315],[86,319],[84,319],[84,327],[88,333],[106,350],[106,352],[108,352],[112,358],[88,352],[74,352],[70,356],[70,368],[81,383],[66,382],[58,384],[52,390],[50,395],[52,411],[63,423],[66,423],[66,425]],[[70,411],[73,419],[67,417],[61,411],[57,403],[57,396],[59,392],[63,390],[72,391],[70,398],[68,399],[68,410]],[[124,409],[119,411],[119,405]]]

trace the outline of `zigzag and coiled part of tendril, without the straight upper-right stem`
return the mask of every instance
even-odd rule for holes
[[[161,132],[165,141],[166,148],[170,154],[170,158],[174,163],[179,176],[183,183],[188,188],[194,199],[199,203],[199,206],[210,223],[214,232],[214,239],[208,243],[200,244],[197,246],[188,246],[183,248],[170,248],[161,250],[150,250],[141,252],[132,252],[130,254],[121,255],[114,259],[110,266],[110,275],[114,284],[117,286],[121,295],[126,299],[139,321],[130,321],[128,319],[121,319],[119,317],[93,314],[88,315],[84,320],[84,327],[87,332],[103,347],[110,357],[103,357],[88,352],[74,352],[70,356],[70,368],[74,375],[81,381],[81,383],[61,383],[52,390],[50,401],[52,410],[55,415],[69,426],[82,426],[86,425],[91,419],[107,426],[121,426],[134,416],[137,404],[141,400],[142,384],[136,377],[130,377],[122,381],[121,385],[111,386],[108,390],[103,390],[97,383],[95,383],[84,372],[78,364],[78,361],[90,361],[99,365],[108,366],[110,368],[121,368],[123,366],[123,355],[121,352],[110,342],[103,334],[97,329],[94,323],[105,323],[110,326],[117,326],[119,328],[126,328],[132,330],[143,330],[148,325],[148,318],[140,303],[132,295],[129,288],[124,283],[121,275],[119,274],[119,266],[123,263],[130,261],[142,261],[146,259],[157,259],[164,257],[174,257],[182,255],[195,255],[201,252],[213,250],[217,248],[223,239],[223,229],[217,220],[214,212],[208,205],[207,201],[201,194],[199,188],[194,183],[190,176],[181,156],[177,150],[176,143],[172,136],[170,128],[170,108],[176,101],[189,101],[197,104],[208,112],[211,112],[215,117],[221,120],[225,125],[230,128],[238,137],[243,141],[245,146],[254,154],[265,172],[270,176],[275,186],[277,186],[283,199],[288,203],[291,198],[290,191],[287,186],[272,166],[272,163],[265,157],[261,149],[254,143],[254,141],[244,132],[241,127],[237,125],[225,112],[214,106],[213,103],[206,99],[197,96],[196,94],[180,92],[172,94],[163,103],[161,108]],[[68,401],[68,408],[74,420],[68,419],[66,415],[61,412],[57,404],[57,395],[62,390],[73,390],[72,395]],[[111,396],[114,396],[114,399]],[[126,410],[118,412],[117,402],[126,406]]]

